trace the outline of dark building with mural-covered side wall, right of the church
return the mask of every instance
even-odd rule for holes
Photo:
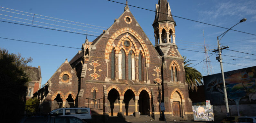
[[[224,72],[231,116],[254,116],[256,114],[256,66]],[[189,92],[193,105],[213,105],[214,120],[226,117],[222,73],[204,76],[204,85],[197,92]],[[193,110],[194,111],[194,110]],[[194,111],[196,114],[196,110]]]

